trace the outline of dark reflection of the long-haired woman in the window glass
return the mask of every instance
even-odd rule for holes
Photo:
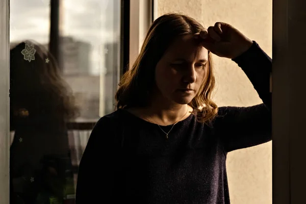
[[[64,173],[71,166],[65,123],[77,114],[70,87],[53,56],[31,41],[10,50],[10,81],[10,129],[15,132],[10,203],[63,199]]]

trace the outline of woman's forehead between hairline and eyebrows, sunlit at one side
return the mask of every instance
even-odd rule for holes
[[[175,58],[186,61],[208,60],[208,50],[196,41],[192,34],[177,37],[166,50],[164,57],[168,60]]]

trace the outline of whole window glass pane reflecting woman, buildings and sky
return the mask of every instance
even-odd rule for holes
[[[120,7],[119,0],[10,1],[11,203],[74,202],[92,127],[115,108]]]

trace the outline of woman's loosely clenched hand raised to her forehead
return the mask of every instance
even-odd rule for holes
[[[248,50],[252,41],[232,25],[216,22],[214,26],[194,35],[200,44],[219,57],[234,59]]]

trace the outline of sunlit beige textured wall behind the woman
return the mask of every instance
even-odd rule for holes
[[[272,56],[272,0],[159,0],[158,15],[187,14],[205,27],[223,21],[255,40]],[[244,72],[230,59],[214,56],[218,106],[262,103]],[[272,142],[230,152],[227,174],[234,204],[272,203]]]

